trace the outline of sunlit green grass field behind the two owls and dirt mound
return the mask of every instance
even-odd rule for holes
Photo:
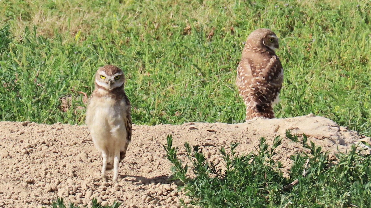
[[[242,122],[236,67],[248,34],[265,27],[280,37],[285,70],[277,117],[314,113],[371,135],[367,0],[8,0],[0,8],[0,120],[83,124],[78,92],[91,94],[96,69],[114,64],[127,76],[136,124]]]

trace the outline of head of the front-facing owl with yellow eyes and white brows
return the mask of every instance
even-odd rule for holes
[[[95,74],[95,85],[108,91],[123,88],[125,77],[122,70],[116,66],[106,65]]]

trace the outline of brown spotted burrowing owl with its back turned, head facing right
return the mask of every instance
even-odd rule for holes
[[[272,104],[279,101],[283,68],[276,56],[278,38],[269,29],[257,29],[247,37],[237,67],[236,85],[246,105],[246,121],[274,118]]]

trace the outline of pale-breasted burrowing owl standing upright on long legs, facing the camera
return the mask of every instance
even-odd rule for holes
[[[95,147],[102,152],[102,178],[114,169],[117,181],[119,162],[131,141],[131,105],[124,91],[125,77],[121,69],[107,65],[95,74],[95,90],[86,108],[86,124]]]

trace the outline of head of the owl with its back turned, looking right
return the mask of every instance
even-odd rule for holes
[[[266,29],[266,28],[260,28],[257,30],[254,30],[249,37],[247,37],[247,40],[252,40],[251,42],[255,42],[258,44],[263,44],[264,46],[270,48],[273,51],[276,51],[278,49],[278,37],[276,36],[273,31]]]

